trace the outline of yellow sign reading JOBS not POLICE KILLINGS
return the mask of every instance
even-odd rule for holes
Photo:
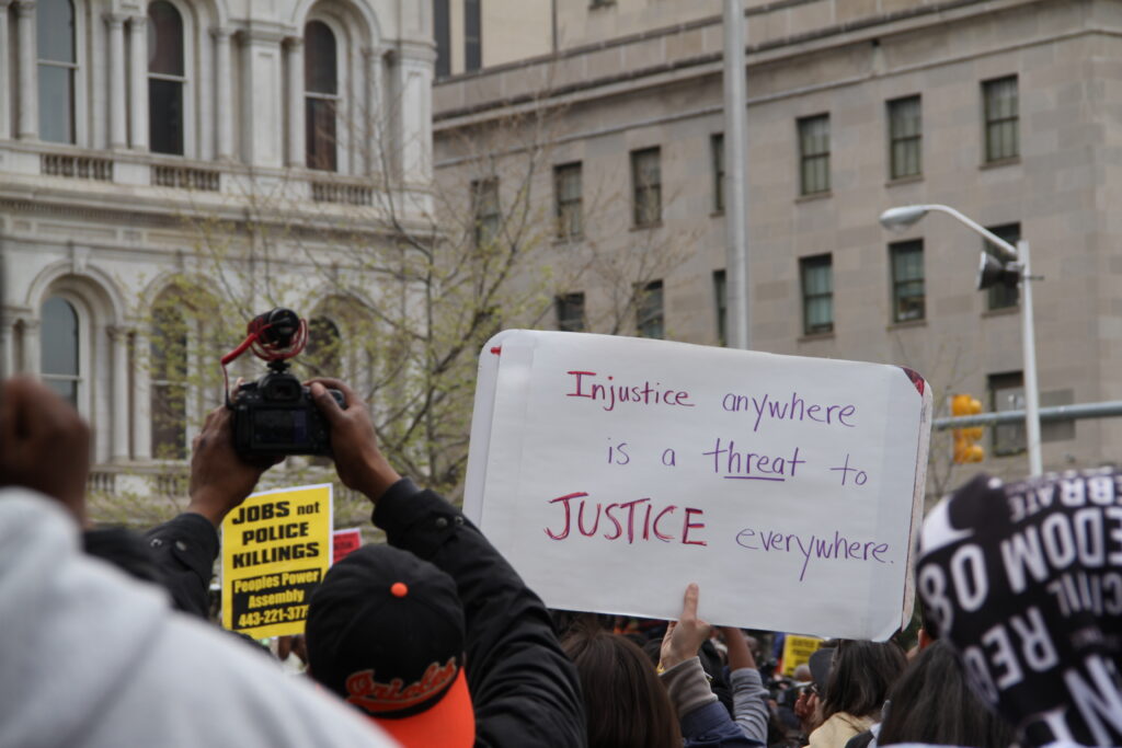
[[[330,483],[254,493],[222,523],[222,626],[300,634],[330,565]]]

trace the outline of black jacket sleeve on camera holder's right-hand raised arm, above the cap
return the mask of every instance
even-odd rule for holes
[[[549,612],[482,533],[408,479],[381,497],[374,523],[390,545],[456,581],[467,619],[476,745],[587,745],[577,669],[561,649]]]

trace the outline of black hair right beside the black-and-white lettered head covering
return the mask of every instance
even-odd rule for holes
[[[978,699],[950,647],[936,641],[919,654],[891,691],[877,745],[929,742],[1005,748],[1013,729]]]

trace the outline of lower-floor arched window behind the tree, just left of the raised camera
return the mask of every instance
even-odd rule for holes
[[[175,298],[153,313],[149,372],[151,454],[158,460],[187,456],[187,324]]]

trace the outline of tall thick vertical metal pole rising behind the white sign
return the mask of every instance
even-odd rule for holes
[[[730,348],[752,344],[748,275],[747,73],[743,0],[725,0],[725,232],[727,234],[727,330]]]

